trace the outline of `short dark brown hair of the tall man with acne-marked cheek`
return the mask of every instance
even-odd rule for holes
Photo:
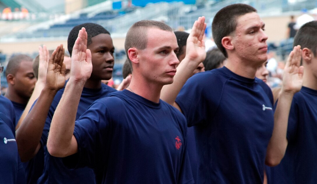
[[[256,9],[247,4],[231,4],[219,10],[212,21],[212,36],[217,47],[227,58],[228,54],[222,45],[222,39],[236,30],[237,18],[247,13],[256,12]]]

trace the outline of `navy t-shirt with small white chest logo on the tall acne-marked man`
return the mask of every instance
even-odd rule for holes
[[[263,182],[274,112],[272,92],[262,80],[226,67],[197,73],[176,103],[188,126],[196,125],[197,183]]]

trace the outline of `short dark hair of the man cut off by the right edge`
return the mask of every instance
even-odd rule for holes
[[[314,57],[317,57],[317,21],[307,22],[297,31],[293,45],[300,45],[301,48],[310,49]]]

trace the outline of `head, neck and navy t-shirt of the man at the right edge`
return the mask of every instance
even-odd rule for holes
[[[288,145],[281,163],[268,169],[268,183],[317,183],[317,21],[304,24],[294,37],[305,67],[303,87],[293,98],[287,127]]]

